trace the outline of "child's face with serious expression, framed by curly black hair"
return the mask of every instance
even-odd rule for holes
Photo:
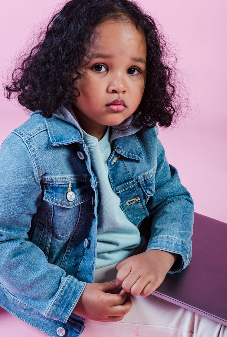
[[[147,46],[132,23],[108,20],[97,26],[85,74],[75,86],[80,95],[73,111],[80,126],[101,139],[107,125],[132,115],[142,99],[146,81]],[[87,61],[87,62],[86,62]],[[88,64],[86,64],[88,63]]]

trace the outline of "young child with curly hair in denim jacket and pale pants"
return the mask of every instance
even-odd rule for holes
[[[157,139],[175,114],[161,41],[133,2],[71,0],[5,87],[32,112],[0,152],[0,304],[49,336],[79,336],[85,318],[224,336],[147,300],[188,266],[193,224]]]

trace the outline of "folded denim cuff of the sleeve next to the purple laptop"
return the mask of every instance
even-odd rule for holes
[[[178,273],[185,269],[191,261],[191,247],[189,247],[184,241],[166,235],[155,236],[149,240],[147,250],[158,249],[164,250],[169,253],[175,253],[181,256],[177,258],[172,268],[168,273]]]

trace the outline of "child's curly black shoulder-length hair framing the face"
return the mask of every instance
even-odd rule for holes
[[[129,0],[67,2],[48,24],[40,43],[13,71],[11,84],[5,85],[7,98],[14,93],[20,104],[32,111],[40,110],[46,118],[62,105],[73,106],[75,96],[79,96],[76,80],[83,76],[78,69],[87,57],[86,46],[95,27],[108,19],[131,20],[147,42],[147,79],[134,114],[141,112],[140,123],[146,127],[154,127],[156,123],[164,127],[171,125],[173,114],[179,113],[173,106],[175,67],[165,64],[166,43],[155,20]]]

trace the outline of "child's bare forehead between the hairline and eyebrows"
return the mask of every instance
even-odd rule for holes
[[[115,50],[119,53],[126,49],[135,53],[147,53],[144,33],[136,28],[132,22],[108,20],[99,24],[91,39],[89,54]]]

